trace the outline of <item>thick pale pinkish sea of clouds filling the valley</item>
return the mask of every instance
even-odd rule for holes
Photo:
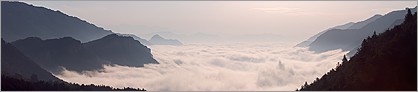
[[[97,71],[62,71],[75,83],[151,91],[296,90],[341,62],[341,50],[314,53],[280,43],[150,46],[160,64],[105,65]]]

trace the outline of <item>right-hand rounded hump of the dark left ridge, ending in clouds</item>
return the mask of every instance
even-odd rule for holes
[[[151,50],[133,37],[111,34],[85,43],[87,49],[112,64],[141,67],[144,64],[158,64]]]

